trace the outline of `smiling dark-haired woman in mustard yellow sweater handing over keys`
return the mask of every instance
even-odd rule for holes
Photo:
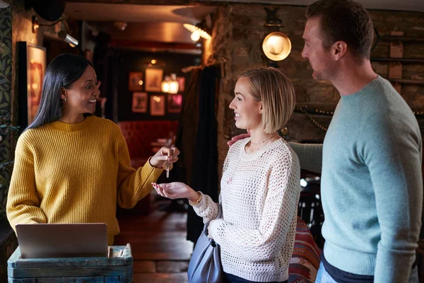
[[[110,120],[91,116],[100,96],[93,65],[61,54],[49,64],[35,120],[20,135],[6,212],[13,229],[31,223],[106,223],[119,233],[116,204],[131,208],[151,191],[163,163],[178,149],[163,147],[138,170]],[[147,133],[146,133],[147,134]]]

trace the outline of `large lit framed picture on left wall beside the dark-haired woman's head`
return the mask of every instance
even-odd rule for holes
[[[46,71],[46,49],[29,42],[18,42],[19,125],[33,122],[40,106],[42,81]]]

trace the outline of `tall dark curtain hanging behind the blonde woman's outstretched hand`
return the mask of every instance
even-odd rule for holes
[[[192,71],[175,141],[182,159],[177,162],[182,166],[178,170],[179,180],[209,195],[215,202],[218,202],[218,74],[215,67]],[[187,240],[196,243],[203,227],[201,217],[189,207]]]

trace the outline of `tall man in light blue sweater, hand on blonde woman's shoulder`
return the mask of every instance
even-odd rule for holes
[[[418,282],[418,122],[372,70],[373,26],[360,4],[321,0],[306,17],[302,57],[341,95],[324,144],[290,144],[302,168],[322,173],[326,241],[316,282]]]

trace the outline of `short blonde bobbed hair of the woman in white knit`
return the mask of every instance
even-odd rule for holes
[[[295,109],[295,88],[287,76],[275,68],[254,68],[243,71],[237,79],[249,80],[254,100],[261,101],[264,112],[264,132],[271,134],[282,129]]]

